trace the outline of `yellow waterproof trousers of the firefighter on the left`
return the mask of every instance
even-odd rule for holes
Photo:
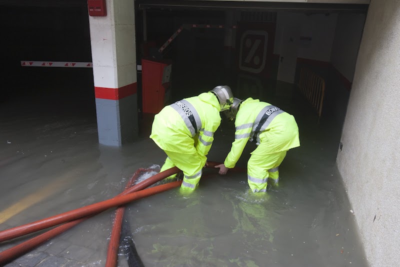
[[[178,167],[183,171],[181,188],[194,190],[200,181],[205,160],[197,153],[187,154],[165,150],[164,152],[168,157],[165,159],[165,163],[162,165],[160,172],[174,166]],[[175,176],[176,174],[169,177]]]

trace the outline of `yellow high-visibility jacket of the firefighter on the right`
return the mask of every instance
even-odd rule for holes
[[[240,104],[235,118],[235,140],[224,164],[235,166],[250,139],[259,145],[251,154],[271,154],[300,145],[297,123],[292,115],[280,108],[251,97]],[[259,149],[260,148],[260,149]]]

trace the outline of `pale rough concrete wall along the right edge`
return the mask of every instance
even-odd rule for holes
[[[400,1],[371,0],[337,165],[372,267],[400,262]]]

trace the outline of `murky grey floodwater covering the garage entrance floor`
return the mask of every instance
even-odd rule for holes
[[[341,125],[328,116],[317,123],[287,84],[262,97],[293,114],[300,131],[301,146],[288,151],[279,185],[253,194],[245,173],[205,169],[190,194],[175,188],[128,204],[118,266],[128,265],[129,238],[145,266],[368,265],[335,165]],[[134,143],[107,147],[97,142],[92,101],[68,108],[51,99],[0,106],[0,230],[111,198],[138,168],[164,160],[148,138],[151,115]],[[222,122],[209,160],[224,160],[233,131]],[[238,166],[254,148],[246,146]],[[103,266],[113,216],[104,211],[6,266]],[[32,236],[2,242],[0,251]]]

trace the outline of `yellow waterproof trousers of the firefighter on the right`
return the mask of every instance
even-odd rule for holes
[[[266,192],[268,177],[273,179],[275,184],[278,182],[278,167],[286,156],[286,151],[264,155],[251,154],[247,162],[247,182],[253,192]]]

